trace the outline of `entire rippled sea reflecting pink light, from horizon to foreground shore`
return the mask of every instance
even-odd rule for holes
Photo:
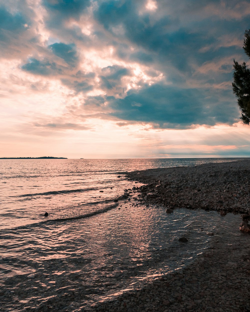
[[[27,309],[71,290],[82,294],[68,308],[74,311],[181,270],[210,246],[207,232],[221,231],[223,223],[225,239],[239,235],[240,216],[184,208],[166,214],[138,203],[136,193],[114,202],[142,185],[126,174],[239,159],[1,159],[0,286],[36,282],[36,295],[22,294]]]

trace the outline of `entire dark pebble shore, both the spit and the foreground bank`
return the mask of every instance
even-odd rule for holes
[[[137,193],[134,205],[165,206],[173,213],[178,207],[217,210],[221,216],[242,213],[243,219],[250,212],[247,160],[134,171],[128,178],[147,184],[128,190],[130,195]],[[93,312],[249,312],[249,241],[249,233],[225,238],[218,232],[211,237],[211,247],[191,265],[101,302]]]

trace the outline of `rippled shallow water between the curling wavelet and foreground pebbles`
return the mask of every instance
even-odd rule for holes
[[[62,295],[70,311],[78,304],[90,308],[187,265],[215,237],[207,232],[235,235],[239,222],[232,214],[222,218],[187,209],[166,214],[161,207],[123,202],[85,219],[2,230],[1,286],[27,309],[53,306]],[[188,242],[179,242],[181,236]],[[16,307],[10,302],[8,311]]]

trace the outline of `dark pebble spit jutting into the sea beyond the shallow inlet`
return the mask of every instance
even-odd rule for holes
[[[147,184],[135,190],[140,202],[168,209],[217,210],[222,216],[250,214],[249,160],[134,171],[128,179]]]

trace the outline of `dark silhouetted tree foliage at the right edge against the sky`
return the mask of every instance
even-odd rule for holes
[[[250,59],[250,29],[245,31],[243,49]],[[250,69],[247,64],[239,64],[233,60],[234,73],[232,90],[237,97],[238,106],[242,112],[240,119],[243,124],[250,123]]]

